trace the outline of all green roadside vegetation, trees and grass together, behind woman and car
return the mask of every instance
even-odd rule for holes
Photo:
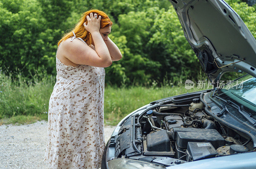
[[[255,2],[227,3],[256,37]],[[57,42],[90,9],[108,14],[109,38],[123,56],[105,68],[106,124],[116,125],[151,101],[202,90],[184,88],[187,79],[206,75],[169,0],[1,0],[0,125],[48,120]]]

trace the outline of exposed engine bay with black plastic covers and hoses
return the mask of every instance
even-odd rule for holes
[[[127,118],[111,137],[115,158],[172,166],[253,151],[248,136],[207,114],[200,94],[154,104]]]

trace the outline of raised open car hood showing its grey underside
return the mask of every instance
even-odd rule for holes
[[[227,71],[246,72],[256,77],[256,40],[225,1],[170,2],[180,19],[184,36],[210,81],[216,84]]]

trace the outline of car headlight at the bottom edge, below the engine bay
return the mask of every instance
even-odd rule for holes
[[[154,165],[144,161],[127,158],[114,158],[107,162],[109,169],[164,169],[165,167]]]

